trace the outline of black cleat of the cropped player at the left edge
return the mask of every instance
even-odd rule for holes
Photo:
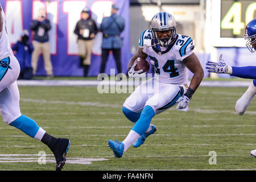
[[[66,155],[70,146],[70,140],[67,138],[58,138],[53,147],[53,154],[56,159],[56,171],[61,171],[65,165]]]

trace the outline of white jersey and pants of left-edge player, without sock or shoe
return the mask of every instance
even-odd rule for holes
[[[3,120],[10,124],[22,115],[19,109],[19,89],[16,84],[20,67],[9,44],[3,9],[1,14],[3,29],[0,32],[0,109]]]

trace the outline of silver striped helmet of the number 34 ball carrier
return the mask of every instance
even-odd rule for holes
[[[152,39],[155,40],[157,44],[163,47],[167,47],[171,44],[176,38],[176,22],[174,16],[170,13],[160,12],[155,14],[151,20],[151,31]],[[156,32],[163,32],[171,30],[172,34],[168,38],[158,38]]]

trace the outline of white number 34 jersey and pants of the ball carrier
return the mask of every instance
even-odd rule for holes
[[[174,106],[188,88],[189,71],[183,60],[193,53],[193,39],[177,34],[167,48],[152,45],[151,30],[143,31],[139,47],[150,57],[150,63],[157,74],[139,85],[123,104],[135,113],[141,112],[146,105],[151,106],[155,114],[161,113]]]

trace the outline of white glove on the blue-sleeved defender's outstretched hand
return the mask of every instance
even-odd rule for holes
[[[222,55],[219,57],[219,62],[212,62],[207,61],[206,65],[208,67],[205,67],[208,69],[209,73],[227,73],[229,66],[226,65],[225,61],[222,59]]]

